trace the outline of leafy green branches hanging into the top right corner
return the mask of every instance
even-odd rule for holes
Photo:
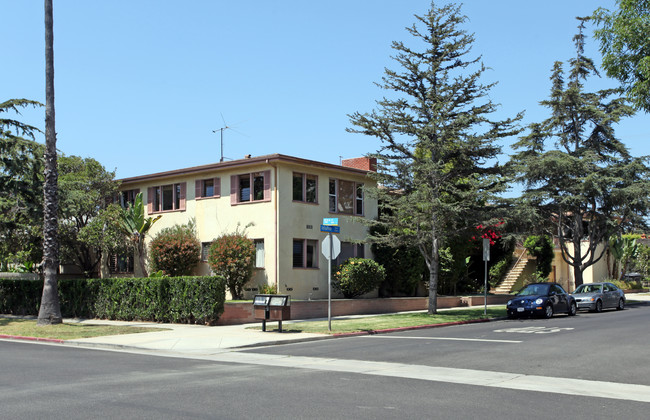
[[[650,112],[650,2],[617,0],[618,10],[599,8],[595,31],[603,68],[618,79],[637,109]]]

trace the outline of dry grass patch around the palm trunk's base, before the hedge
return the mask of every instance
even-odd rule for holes
[[[66,323],[40,327],[36,325],[36,320],[0,318],[0,335],[54,338],[60,340],[101,337],[105,335],[135,334],[150,331],[162,331],[165,329],[166,328]]]

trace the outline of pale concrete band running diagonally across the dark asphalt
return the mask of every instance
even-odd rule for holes
[[[365,360],[345,360],[259,353],[229,352],[196,358],[213,360],[216,362],[245,363],[330,372],[348,372],[362,375],[389,376],[396,378],[419,379],[424,381],[486,386],[491,388],[650,402],[650,386],[618,382],[553,378],[547,376],[491,372],[474,369],[409,365],[405,363],[370,362]]]

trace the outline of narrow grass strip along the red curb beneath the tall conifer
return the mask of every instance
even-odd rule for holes
[[[504,316],[506,316],[505,306],[501,308],[492,307],[487,310],[488,318]],[[429,315],[426,312],[415,312],[407,314],[376,315],[363,318],[333,318],[331,332],[328,331],[327,321],[305,321],[293,324],[285,322],[282,325],[282,330],[286,332],[339,334],[359,331],[376,331],[399,327],[444,324],[447,322],[469,321],[482,318],[484,318],[483,308],[454,309],[449,311],[440,311],[436,315]],[[261,329],[262,327],[251,328]],[[276,328],[277,322],[267,322],[267,331]]]

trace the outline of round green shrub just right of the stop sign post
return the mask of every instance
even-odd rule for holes
[[[336,270],[334,288],[346,298],[355,298],[379,287],[385,277],[384,267],[375,261],[350,258]]]

